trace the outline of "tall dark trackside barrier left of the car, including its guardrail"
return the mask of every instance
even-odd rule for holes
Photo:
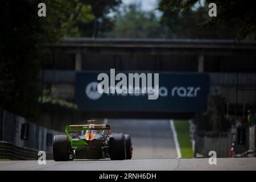
[[[6,110],[0,110],[0,158],[34,160],[38,151],[52,158],[52,138],[63,134],[28,122]]]

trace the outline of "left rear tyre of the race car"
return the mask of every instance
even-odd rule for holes
[[[69,159],[69,139],[67,135],[54,136],[52,153],[55,161],[67,161]]]

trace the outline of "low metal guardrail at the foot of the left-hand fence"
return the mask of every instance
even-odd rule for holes
[[[38,160],[39,156],[38,150],[0,141],[0,158],[11,160]],[[46,159],[52,159],[52,154],[47,154]]]

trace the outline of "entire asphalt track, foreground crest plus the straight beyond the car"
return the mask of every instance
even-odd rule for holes
[[[131,160],[73,160],[55,162],[47,160],[0,161],[3,170],[256,170],[256,158],[218,158],[216,165],[209,159],[176,159],[174,138],[168,120],[109,119],[112,133],[130,134],[133,143]]]

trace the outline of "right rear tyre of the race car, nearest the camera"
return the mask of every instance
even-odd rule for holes
[[[112,134],[109,137],[109,156],[111,160],[126,159],[125,135]]]

